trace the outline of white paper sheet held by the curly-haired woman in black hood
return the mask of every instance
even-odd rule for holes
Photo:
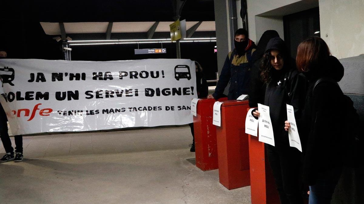
[[[258,103],[258,111],[259,111],[259,142],[264,142],[274,146],[274,135],[273,135],[273,127],[272,121],[270,120],[269,115],[269,106],[262,105]]]

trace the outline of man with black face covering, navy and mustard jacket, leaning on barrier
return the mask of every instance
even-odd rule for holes
[[[229,52],[222,67],[215,93],[209,94],[207,98],[221,98],[229,81],[229,94],[227,94],[229,100],[237,99],[242,94],[249,94],[252,53],[256,45],[248,38],[248,32],[242,28],[235,32],[234,45],[235,49]]]

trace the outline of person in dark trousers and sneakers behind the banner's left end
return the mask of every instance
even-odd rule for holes
[[[5,50],[0,49],[0,59],[7,58],[7,53]],[[1,76],[0,76],[1,80]],[[0,85],[3,85],[3,82],[1,80]],[[15,156],[14,156],[14,149],[11,146],[11,140],[9,138],[8,134],[8,118],[6,117],[5,111],[3,109],[3,106],[0,104],[0,138],[1,142],[3,142],[4,149],[6,151],[6,154],[3,156],[3,158],[0,159],[0,162],[8,162],[11,160],[14,160],[14,162],[20,162],[23,160],[23,136],[22,135],[15,135]]]

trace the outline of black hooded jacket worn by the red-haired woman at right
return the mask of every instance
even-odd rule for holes
[[[303,179],[313,185],[317,174],[342,165],[344,153],[344,132],[340,121],[342,104],[338,101],[342,92],[332,82],[323,81],[314,90],[318,78],[332,78],[339,82],[344,76],[343,65],[337,58],[330,56],[327,62],[320,65],[319,72],[305,73],[308,80],[308,91],[302,120],[297,122],[300,131],[303,160]]]

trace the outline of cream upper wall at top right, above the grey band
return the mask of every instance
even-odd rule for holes
[[[319,7],[321,37],[332,55],[341,59],[364,54],[364,0],[320,0]]]

